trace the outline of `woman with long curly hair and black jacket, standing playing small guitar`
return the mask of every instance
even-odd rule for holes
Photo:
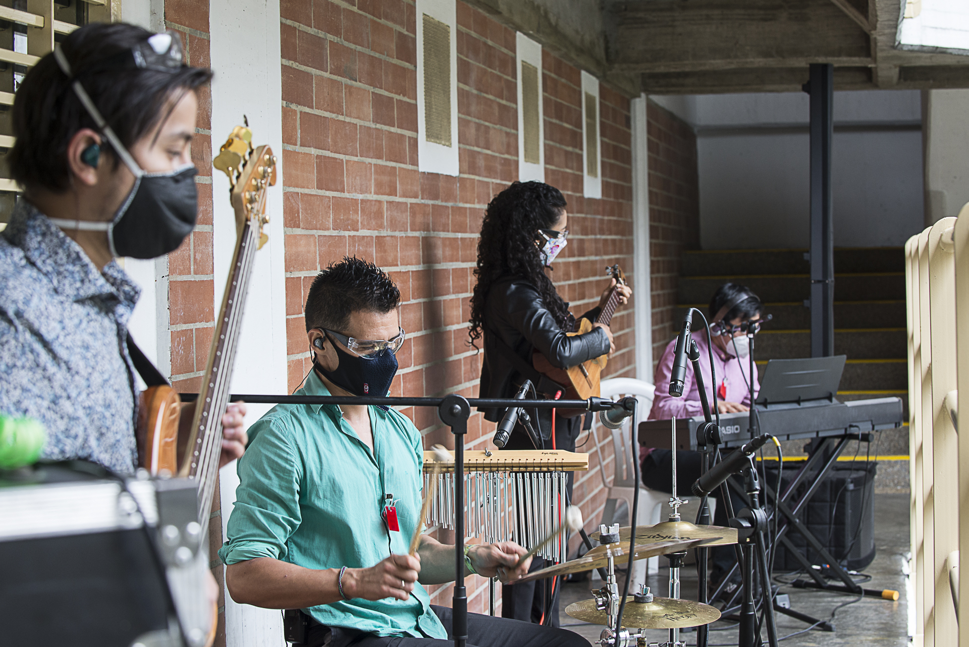
[[[479,348],[478,342],[482,341],[485,351],[481,397],[514,397],[525,379],[532,381],[540,396],[554,397],[558,387],[547,379],[540,380],[531,368],[536,351],[560,368],[615,351],[612,332],[603,323],[595,323],[585,334],[566,334],[574,330],[576,318],[547,276],[567,243],[569,214],[565,207],[562,193],[544,182],[514,182],[487,205],[469,321],[471,344]],[[612,280],[599,305],[582,317],[594,322],[614,285]],[[620,301],[625,303],[630,290],[625,286],[619,290]],[[506,410],[482,411],[486,420],[497,422]],[[549,409],[538,410],[537,414],[533,426],[540,436],[535,439],[540,444],[538,448],[575,450],[581,417],[556,415],[553,420]],[[504,448],[536,447],[519,422]],[[572,474],[567,489],[571,497]],[[545,566],[545,560],[532,561],[532,570]],[[505,586],[502,615],[558,626],[557,589],[549,580],[538,586],[535,582]]]

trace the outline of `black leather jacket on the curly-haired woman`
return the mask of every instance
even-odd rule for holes
[[[595,321],[599,308],[582,315]],[[545,307],[542,296],[524,279],[500,279],[487,293],[485,300],[485,352],[482,359],[481,397],[515,397],[522,378],[511,359],[501,353],[495,342],[497,335],[529,366],[532,351],[538,349],[554,366],[566,368],[609,353],[609,337],[602,328],[594,328],[584,335],[569,336],[555,323]],[[497,422],[504,409],[481,409],[485,420]]]

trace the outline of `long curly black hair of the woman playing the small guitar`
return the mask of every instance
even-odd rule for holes
[[[482,337],[488,290],[505,276],[516,276],[535,286],[548,312],[564,329],[570,319],[569,308],[546,276],[535,239],[539,230],[555,228],[565,206],[561,191],[534,181],[513,182],[487,205],[478,241],[478,283],[471,296],[469,346],[478,348],[475,342]]]

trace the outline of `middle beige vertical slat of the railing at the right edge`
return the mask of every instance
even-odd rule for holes
[[[956,387],[954,225],[955,218],[943,218],[928,231],[926,241],[932,352],[932,502],[938,512],[932,515],[932,584],[935,602],[932,637],[937,645],[955,645],[958,640],[958,625],[955,621],[955,606],[947,568],[949,554],[959,547],[958,516],[952,513],[959,505],[958,439],[950,408],[947,406],[950,399],[947,396],[951,392],[954,396]],[[926,404],[922,402],[927,410]],[[926,578],[927,576],[926,570]]]

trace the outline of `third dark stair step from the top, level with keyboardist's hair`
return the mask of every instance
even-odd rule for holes
[[[694,304],[704,314],[706,304]],[[683,321],[687,306],[677,306],[675,321]],[[803,302],[765,303],[764,314],[772,319],[766,323],[766,330],[791,330],[811,327],[811,310],[804,307]],[[905,301],[835,301],[834,327],[836,328],[864,328],[886,326],[892,328],[905,327]],[[677,326],[678,327],[678,326]]]

